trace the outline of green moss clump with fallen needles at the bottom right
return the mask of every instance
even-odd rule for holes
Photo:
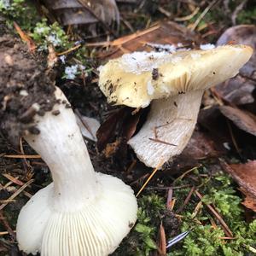
[[[166,230],[166,240],[171,240],[178,234],[189,231],[183,241],[179,241],[168,249],[173,255],[211,255],[234,256],[254,255],[256,247],[256,220],[247,223],[244,210],[241,207],[241,197],[235,189],[235,184],[223,172],[211,173],[205,167],[195,169],[182,179],[177,179],[175,186],[189,185],[189,188],[174,189],[176,199],[172,214],[166,211],[165,200],[160,195],[144,195],[138,200],[138,220],[131,234],[120,245],[113,255],[151,255],[156,250],[158,230],[162,221]],[[195,193],[182,212],[175,214],[183,204],[189,190],[195,186],[203,195],[200,200]],[[221,218],[233,233],[231,239],[226,234],[218,219],[212,216],[207,205],[211,204],[219,212]],[[195,210],[196,209],[196,210]],[[165,217],[169,218],[169,224]],[[175,219],[180,222],[175,223]],[[170,223],[170,220],[172,222]],[[170,230],[176,230],[174,233]]]

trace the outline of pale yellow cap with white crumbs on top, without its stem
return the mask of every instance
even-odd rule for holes
[[[134,52],[99,68],[99,86],[108,102],[145,108],[154,99],[205,90],[234,77],[253,54],[247,45],[215,49]]]

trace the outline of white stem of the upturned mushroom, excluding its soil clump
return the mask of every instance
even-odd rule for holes
[[[61,101],[67,101],[60,90],[57,94]],[[55,110],[61,112],[56,116],[50,112],[38,116],[40,134],[24,138],[49,166],[54,181],[54,207],[76,211],[95,200],[99,186],[73,110],[65,105],[55,105]]]

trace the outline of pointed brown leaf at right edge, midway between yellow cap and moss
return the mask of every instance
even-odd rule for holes
[[[225,117],[230,119],[242,131],[256,136],[256,116],[253,113],[229,106],[221,106],[219,109]]]

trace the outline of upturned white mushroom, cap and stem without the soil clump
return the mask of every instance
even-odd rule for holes
[[[34,117],[39,134],[24,136],[49,166],[53,183],[20,211],[20,250],[42,256],[108,255],[135,223],[137,200],[119,178],[94,172],[67,98],[60,89],[55,98],[52,112]]]

